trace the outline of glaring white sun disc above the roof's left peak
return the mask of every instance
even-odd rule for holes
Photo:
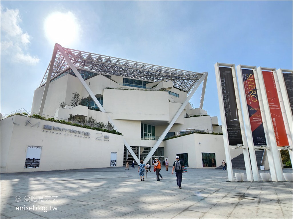
[[[80,25],[71,12],[51,13],[44,23],[45,36],[52,44],[58,43],[62,47],[69,47],[79,39]]]

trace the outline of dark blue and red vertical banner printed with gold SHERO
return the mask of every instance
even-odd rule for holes
[[[266,145],[263,120],[260,113],[258,94],[252,69],[242,69],[244,92],[251,125],[253,144],[255,146]]]

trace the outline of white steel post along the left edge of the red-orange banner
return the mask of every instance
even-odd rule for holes
[[[270,165],[270,172],[271,172],[271,177],[272,181],[284,181],[283,180],[283,171],[281,167],[281,162],[280,162],[280,152],[277,149],[277,141],[275,137],[275,131],[274,131],[274,126],[272,124],[272,117],[271,117],[271,112],[270,112],[270,106],[268,103],[268,97],[267,97],[267,92],[265,89],[265,83],[263,80],[263,72],[262,71],[272,71],[276,72],[276,69],[267,69],[267,68],[262,68],[258,67],[257,68],[257,77],[258,77],[258,82],[259,82],[259,88],[260,88],[260,95],[263,100],[263,110],[265,117],[263,119],[266,120],[266,129],[269,141],[267,141],[267,145],[269,146],[269,149],[267,150],[269,159],[271,157],[271,161],[269,160],[269,165]],[[264,127],[265,128],[265,127]],[[271,168],[274,168],[271,170]]]

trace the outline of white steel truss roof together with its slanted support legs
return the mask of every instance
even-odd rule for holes
[[[95,58],[93,58],[95,57]],[[93,101],[96,103],[97,107],[101,112],[106,112],[103,106],[95,97],[94,93],[91,91],[87,83],[81,77],[78,69],[85,69],[87,71],[99,72],[101,74],[110,74],[117,76],[125,76],[136,79],[152,80],[152,81],[173,81],[176,84],[176,88],[181,89],[187,92],[189,95],[180,106],[176,114],[170,120],[168,126],[163,131],[159,139],[154,144],[153,148],[145,158],[144,162],[147,162],[154,151],[159,147],[160,143],[163,141],[164,136],[172,128],[175,121],[178,119],[181,112],[184,110],[185,106],[188,104],[188,101],[191,99],[195,91],[199,88],[200,84],[203,82],[202,86],[202,97],[201,97],[201,107],[203,104],[205,87],[206,87],[206,78],[207,72],[196,73],[191,71],[183,71],[179,69],[171,69],[162,66],[155,66],[145,63],[134,62],[125,59],[118,59],[114,57],[106,57],[98,54],[92,54],[87,52],[81,52],[73,49],[66,49],[61,47],[59,44],[55,44],[54,51],[50,64],[47,68],[45,76],[43,77],[42,83],[40,86],[45,85],[43,97],[40,105],[39,113],[42,114],[45,100],[47,97],[47,92],[49,89],[50,81],[58,77],[65,70],[71,68],[75,73],[75,76],[79,78],[81,84],[84,86],[88,94],[91,96]],[[108,116],[108,121],[113,125],[115,130],[118,130],[115,126],[113,120]],[[119,131],[119,130],[118,130]],[[127,150],[130,152],[134,160],[139,163],[139,159],[135,155],[134,151],[124,139],[124,145]]]

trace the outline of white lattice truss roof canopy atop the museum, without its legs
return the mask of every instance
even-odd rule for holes
[[[204,74],[83,52],[64,47],[63,49],[77,69],[85,69],[95,73],[124,76],[127,78],[149,80],[154,82],[172,81],[175,88],[183,90],[188,94],[191,90],[193,90],[197,84],[197,81],[199,81]],[[40,86],[46,83],[49,67],[50,64]],[[69,68],[69,65],[58,50],[54,61],[51,79],[61,74],[67,68]]]

